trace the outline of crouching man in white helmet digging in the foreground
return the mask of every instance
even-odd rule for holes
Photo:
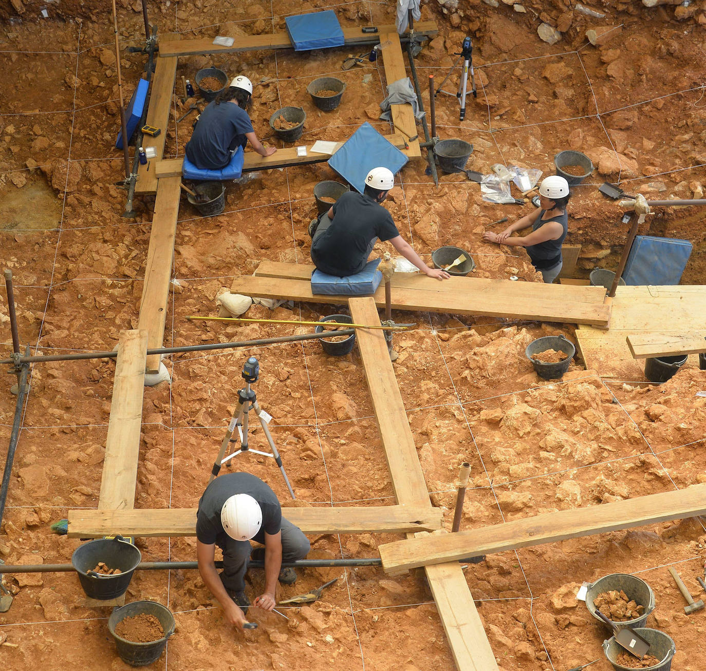
[[[265,545],[265,588],[255,605],[272,610],[277,580],[287,585],[297,580],[294,569],[282,569],[282,561],[304,559],[309,552],[309,540],[298,527],[282,517],[275,492],[260,478],[250,473],[227,473],[215,478],[198,502],[198,571],[228,622],[239,629],[247,622],[245,615],[250,605],[244,578],[251,539]],[[223,550],[220,575],[214,563],[216,545]]]

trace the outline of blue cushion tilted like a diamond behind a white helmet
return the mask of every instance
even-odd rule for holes
[[[363,193],[365,178],[373,168],[382,166],[395,174],[408,160],[366,121],[330,157],[328,164],[356,191]]]

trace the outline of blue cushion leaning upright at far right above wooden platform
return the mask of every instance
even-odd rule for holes
[[[676,238],[636,236],[630,248],[623,279],[626,284],[679,284],[691,243]]]

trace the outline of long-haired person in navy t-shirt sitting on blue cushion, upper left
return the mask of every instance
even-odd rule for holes
[[[186,157],[197,168],[220,170],[229,164],[238,147],[248,140],[261,156],[271,156],[277,147],[263,147],[248,116],[252,107],[253,85],[243,75],[206,105],[186,143]]]

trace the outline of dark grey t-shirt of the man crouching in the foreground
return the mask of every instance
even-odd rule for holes
[[[260,478],[250,473],[226,473],[215,478],[203,492],[196,512],[196,538],[213,545],[216,536],[224,533],[220,521],[223,504],[234,494],[249,494],[259,504],[263,512],[263,531],[273,536],[282,526],[282,508],[275,492]]]

